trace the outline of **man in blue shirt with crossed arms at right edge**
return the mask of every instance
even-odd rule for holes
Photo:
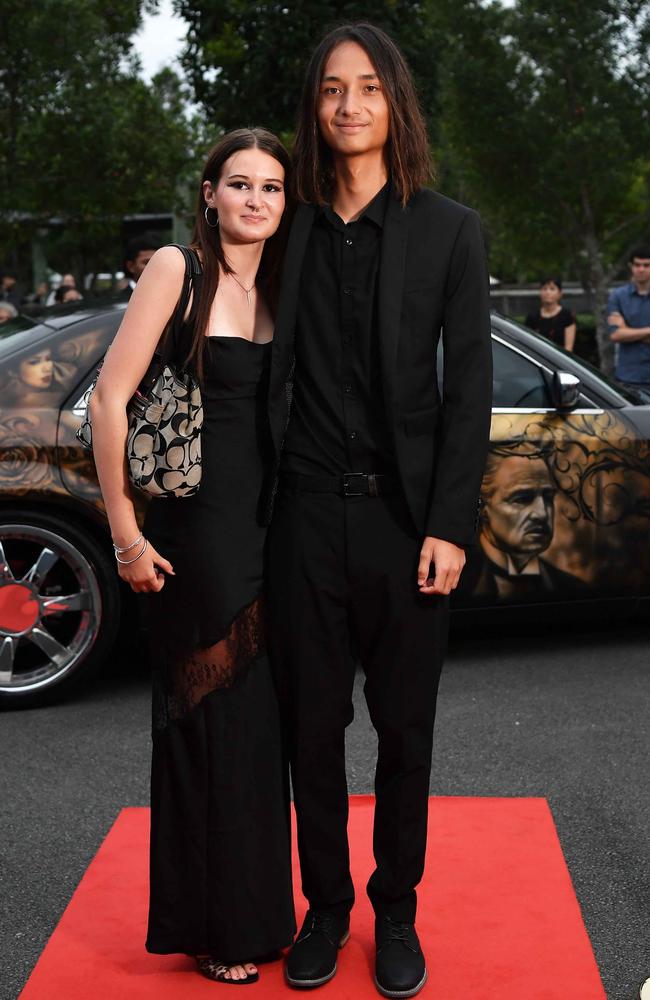
[[[650,246],[630,254],[631,281],[607,303],[611,339],[618,344],[616,378],[650,393]]]

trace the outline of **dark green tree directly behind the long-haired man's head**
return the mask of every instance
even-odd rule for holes
[[[415,74],[423,109],[435,121],[435,67],[443,39],[421,3],[367,4],[301,0],[175,0],[188,23],[182,57],[196,100],[226,129],[263,125],[287,140],[309,56],[325,31],[343,21],[371,20],[398,42]]]

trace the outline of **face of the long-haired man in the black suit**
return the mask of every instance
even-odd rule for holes
[[[332,152],[341,156],[382,150],[388,141],[388,102],[368,53],[356,42],[341,42],[325,63],[318,124]]]

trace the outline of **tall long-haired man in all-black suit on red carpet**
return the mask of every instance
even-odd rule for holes
[[[338,28],[316,49],[295,173],[269,390],[271,635],[310,906],[286,974],[298,988],[327,982],[349,934],[344,749],[359,660],[379,738],[376,984],[414,996],[426,980],[415,887],[448,595],[474,539],[489,436],[487,267],[478,216],[423,188],[413,82],[372,25]]]

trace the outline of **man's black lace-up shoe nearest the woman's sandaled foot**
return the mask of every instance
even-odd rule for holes
[[[289,952],[285,974],[289,986],[312,990],[336,973],[336,955],[350,937],[350,918],[308,910]]]

